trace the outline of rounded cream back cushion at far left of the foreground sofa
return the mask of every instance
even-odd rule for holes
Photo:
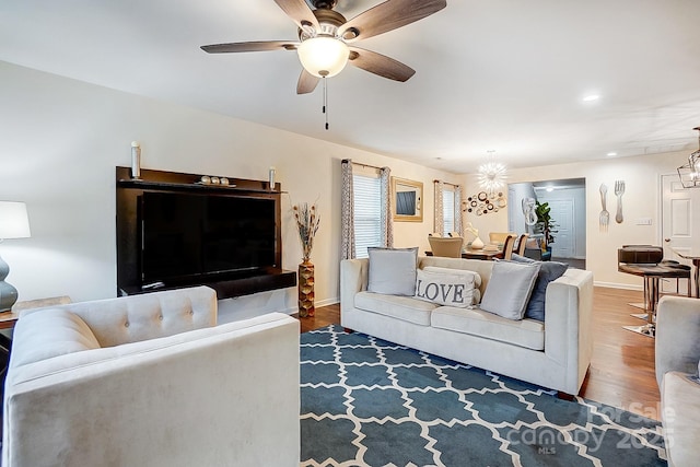
[[[100,349],[90,327],[67,310],[46,308],[23,316],[14,328],[11,365],[21,366],[67,353]]]

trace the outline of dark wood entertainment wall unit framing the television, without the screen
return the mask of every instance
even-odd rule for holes
[[[214,174],[215,175],[215,174]],[[208,174],[208,176],[214,176]],[[221,175],[215,175],[221,177]],[[131,177],[129,167],[116,167],[117,201],[117,295],[131,295],[191,285],[208,285],[219,299],[229,299],[296,285],[296,272],[281,268],[281,186],[243,178],[226,177],[229,184],[202,183],[203,175],[141,170]],[[139,199],[144,192],[199,192],[231,197],[265,198],[275,201],[275,264],[255,271],[236,271],[215,278],[168,281],[148,287],[141,280],[141,238],[139,236]],[[144,287],[147,285],[147,287]]]

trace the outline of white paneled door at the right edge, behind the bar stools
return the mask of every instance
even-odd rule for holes
[[[692,265],[672,248],[689,250],[692,242],[700,242],[700,189],[684,188],[678,175],[662,176],[662,245],[664,258]],[[687,283],[680,281],[679,291],[687,292]],[[675,292],[676,281],[663,281],[662,292]]]

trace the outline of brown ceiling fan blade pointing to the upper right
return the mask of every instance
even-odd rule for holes
[[[346,42],[365,39],[405,26],[442,10],[446,0],[386,0],[338,28]]]

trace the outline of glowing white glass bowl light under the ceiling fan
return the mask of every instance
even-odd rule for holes
[[[316,36],[304,40],[296,49],[302,67],[314,77],[330,78],[340,73],[350,57],[342,40],[331,36]]]

